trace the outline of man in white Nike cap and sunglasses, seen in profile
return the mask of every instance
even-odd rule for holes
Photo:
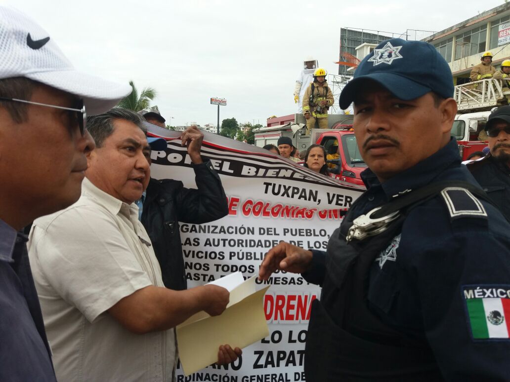
[[[54,381],[19,230],[78,200],[95,146],[86,113],[108,110],[131,89],[77,72],[19,11],[0,7],[0,41],[0,380]]]

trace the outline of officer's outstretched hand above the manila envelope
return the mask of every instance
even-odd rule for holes
[[[264,257],[259,269],[259,280],[267,280],[276,269],[292,273],[304,272],[310,266],[312,256],[312,251],[281,241]]]

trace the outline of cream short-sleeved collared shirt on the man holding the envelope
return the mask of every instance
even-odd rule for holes
[[[134,334],[107,312],[141,288],[164,286],[134,203],[85,178],[78,202],[34,222],[29,257],[58,380],[173,379],[174,331]]]

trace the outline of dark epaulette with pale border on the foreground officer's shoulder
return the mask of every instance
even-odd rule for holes
[[[441,196],[450,213],[450,220],[463,217],[480,217],[487,219],[487,211],[481,202],[466,188],[446,187]]]

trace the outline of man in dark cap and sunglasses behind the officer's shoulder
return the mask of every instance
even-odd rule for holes
[[[491,151],[483,159],[467,163],[467,167],[510,222],[510,106],[492,112],[485,131]]]

